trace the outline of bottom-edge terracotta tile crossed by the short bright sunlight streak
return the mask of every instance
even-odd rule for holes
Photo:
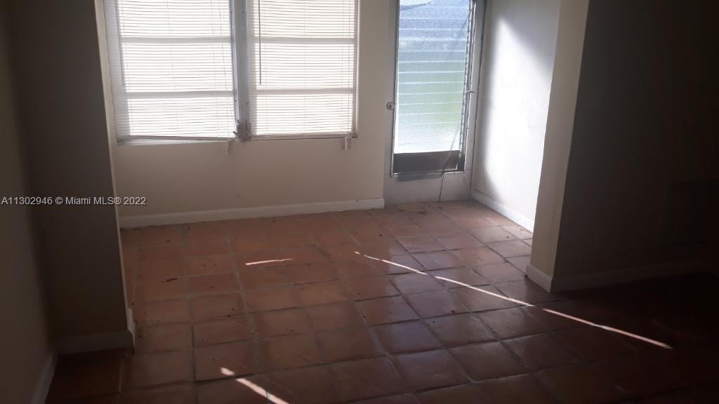
[[[257,376],[203,383],[197,387],[198,404],[267,404],[267,385]]]

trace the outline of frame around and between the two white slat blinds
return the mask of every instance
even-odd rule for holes
[[[233,93],[234,93],[234,115],[236,121],[235,137],[190,137],[190,136],[115,136],[117,144],[176,144],[176,143],[205,143],[205,142],[232,142],[235,141],[265,141],[265,140],[290,140],[290,139],[341,139],[341,138],[357,138],[357,68],[358,49],[359,49],[359,0],[354,0],[355,18],[354,18],[354,92],[352,111],[352,132],[350,134],[305,134],[305,135],[255,135],[252,136],[252,123],[249,121],[250,108],[252,100],[249,95],[249,33],[247,29],[247,1],[252,0],[229,0],[229,15],[231,23],[231,41],[232,41],[232,68],[233,68]],[[103,4],[106,6],[106,4]],[[116,13],[115,13],[116,14]],[[116,30],[117,22],[111,22],[111,27]],[[118,32],[114,32],[114,37],[118,38]],[[108,44],[109,52],[119,44]],[[110,55],[112,58],[113,56]],[[114,57],[117,57],[115,55]],[[122,55],[120,56],[122,57]],[[122,73],[120,73],[122,74]],[[112,97],[110,97],[112,98]],[[113,106],[114,114],[114,106]],[[114,118],[112,119],[114,123]],[[116,129],[113,128],[114,132]]]

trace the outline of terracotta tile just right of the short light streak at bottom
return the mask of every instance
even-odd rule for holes
[[[267,375],[267,379],[270,398],[279,398],[281,403],[333,404],[337,400],[329,367],[280,370]]]

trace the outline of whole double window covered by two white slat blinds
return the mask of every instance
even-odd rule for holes
[[[105,2],[116,136],[354,135],[357,0]]]

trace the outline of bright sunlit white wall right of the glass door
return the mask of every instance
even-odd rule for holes
[[[533,226],[561,0],[488,0],[472,191]]]

